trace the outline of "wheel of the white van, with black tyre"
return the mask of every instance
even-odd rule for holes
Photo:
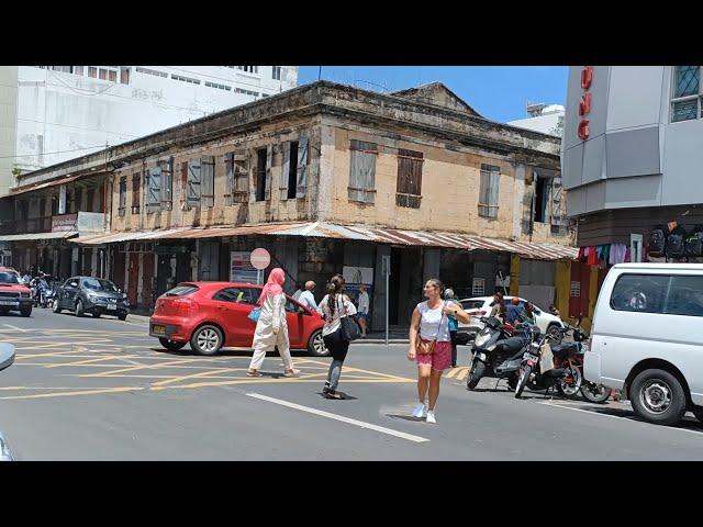
[[[635,414],[649,423],[676,425],[685,414],[685,393],[679,380],[665,370],[645,370],[632,385]]]

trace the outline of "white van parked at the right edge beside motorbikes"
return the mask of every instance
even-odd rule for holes
[[[598,296],[583,375],[623,390],[635,413],[703,422],[703,265],[618,264]]]

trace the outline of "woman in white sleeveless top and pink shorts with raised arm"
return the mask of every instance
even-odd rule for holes
[[[443,301],[444,284],[436,278],[427,280],[424,288],[427,300],[417,304],[410,323],[410,349],[408,359],[417,361],[417,396],[420,403],[413,410],[414,417],[425,416],[427,423],[437,423],[435,405],[439,397],[442,373],[451,365],[451,337],[447,316],[468,324],[469,314],[460,306]],[[434,340],[434,350],[421,355],[417,347]],[[425,397],[429,391],[429,404]],[[426,411],[426,413],[425,413]]]

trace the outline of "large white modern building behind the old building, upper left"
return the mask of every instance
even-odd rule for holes
[[[36,170],[298,85],[297,66],[0,67],[0,195]]]

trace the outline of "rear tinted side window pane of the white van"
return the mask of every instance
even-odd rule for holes
[[[670,279],[662,274],[623,274],[613,288],[611,307],[636,313],[663,313]]]

